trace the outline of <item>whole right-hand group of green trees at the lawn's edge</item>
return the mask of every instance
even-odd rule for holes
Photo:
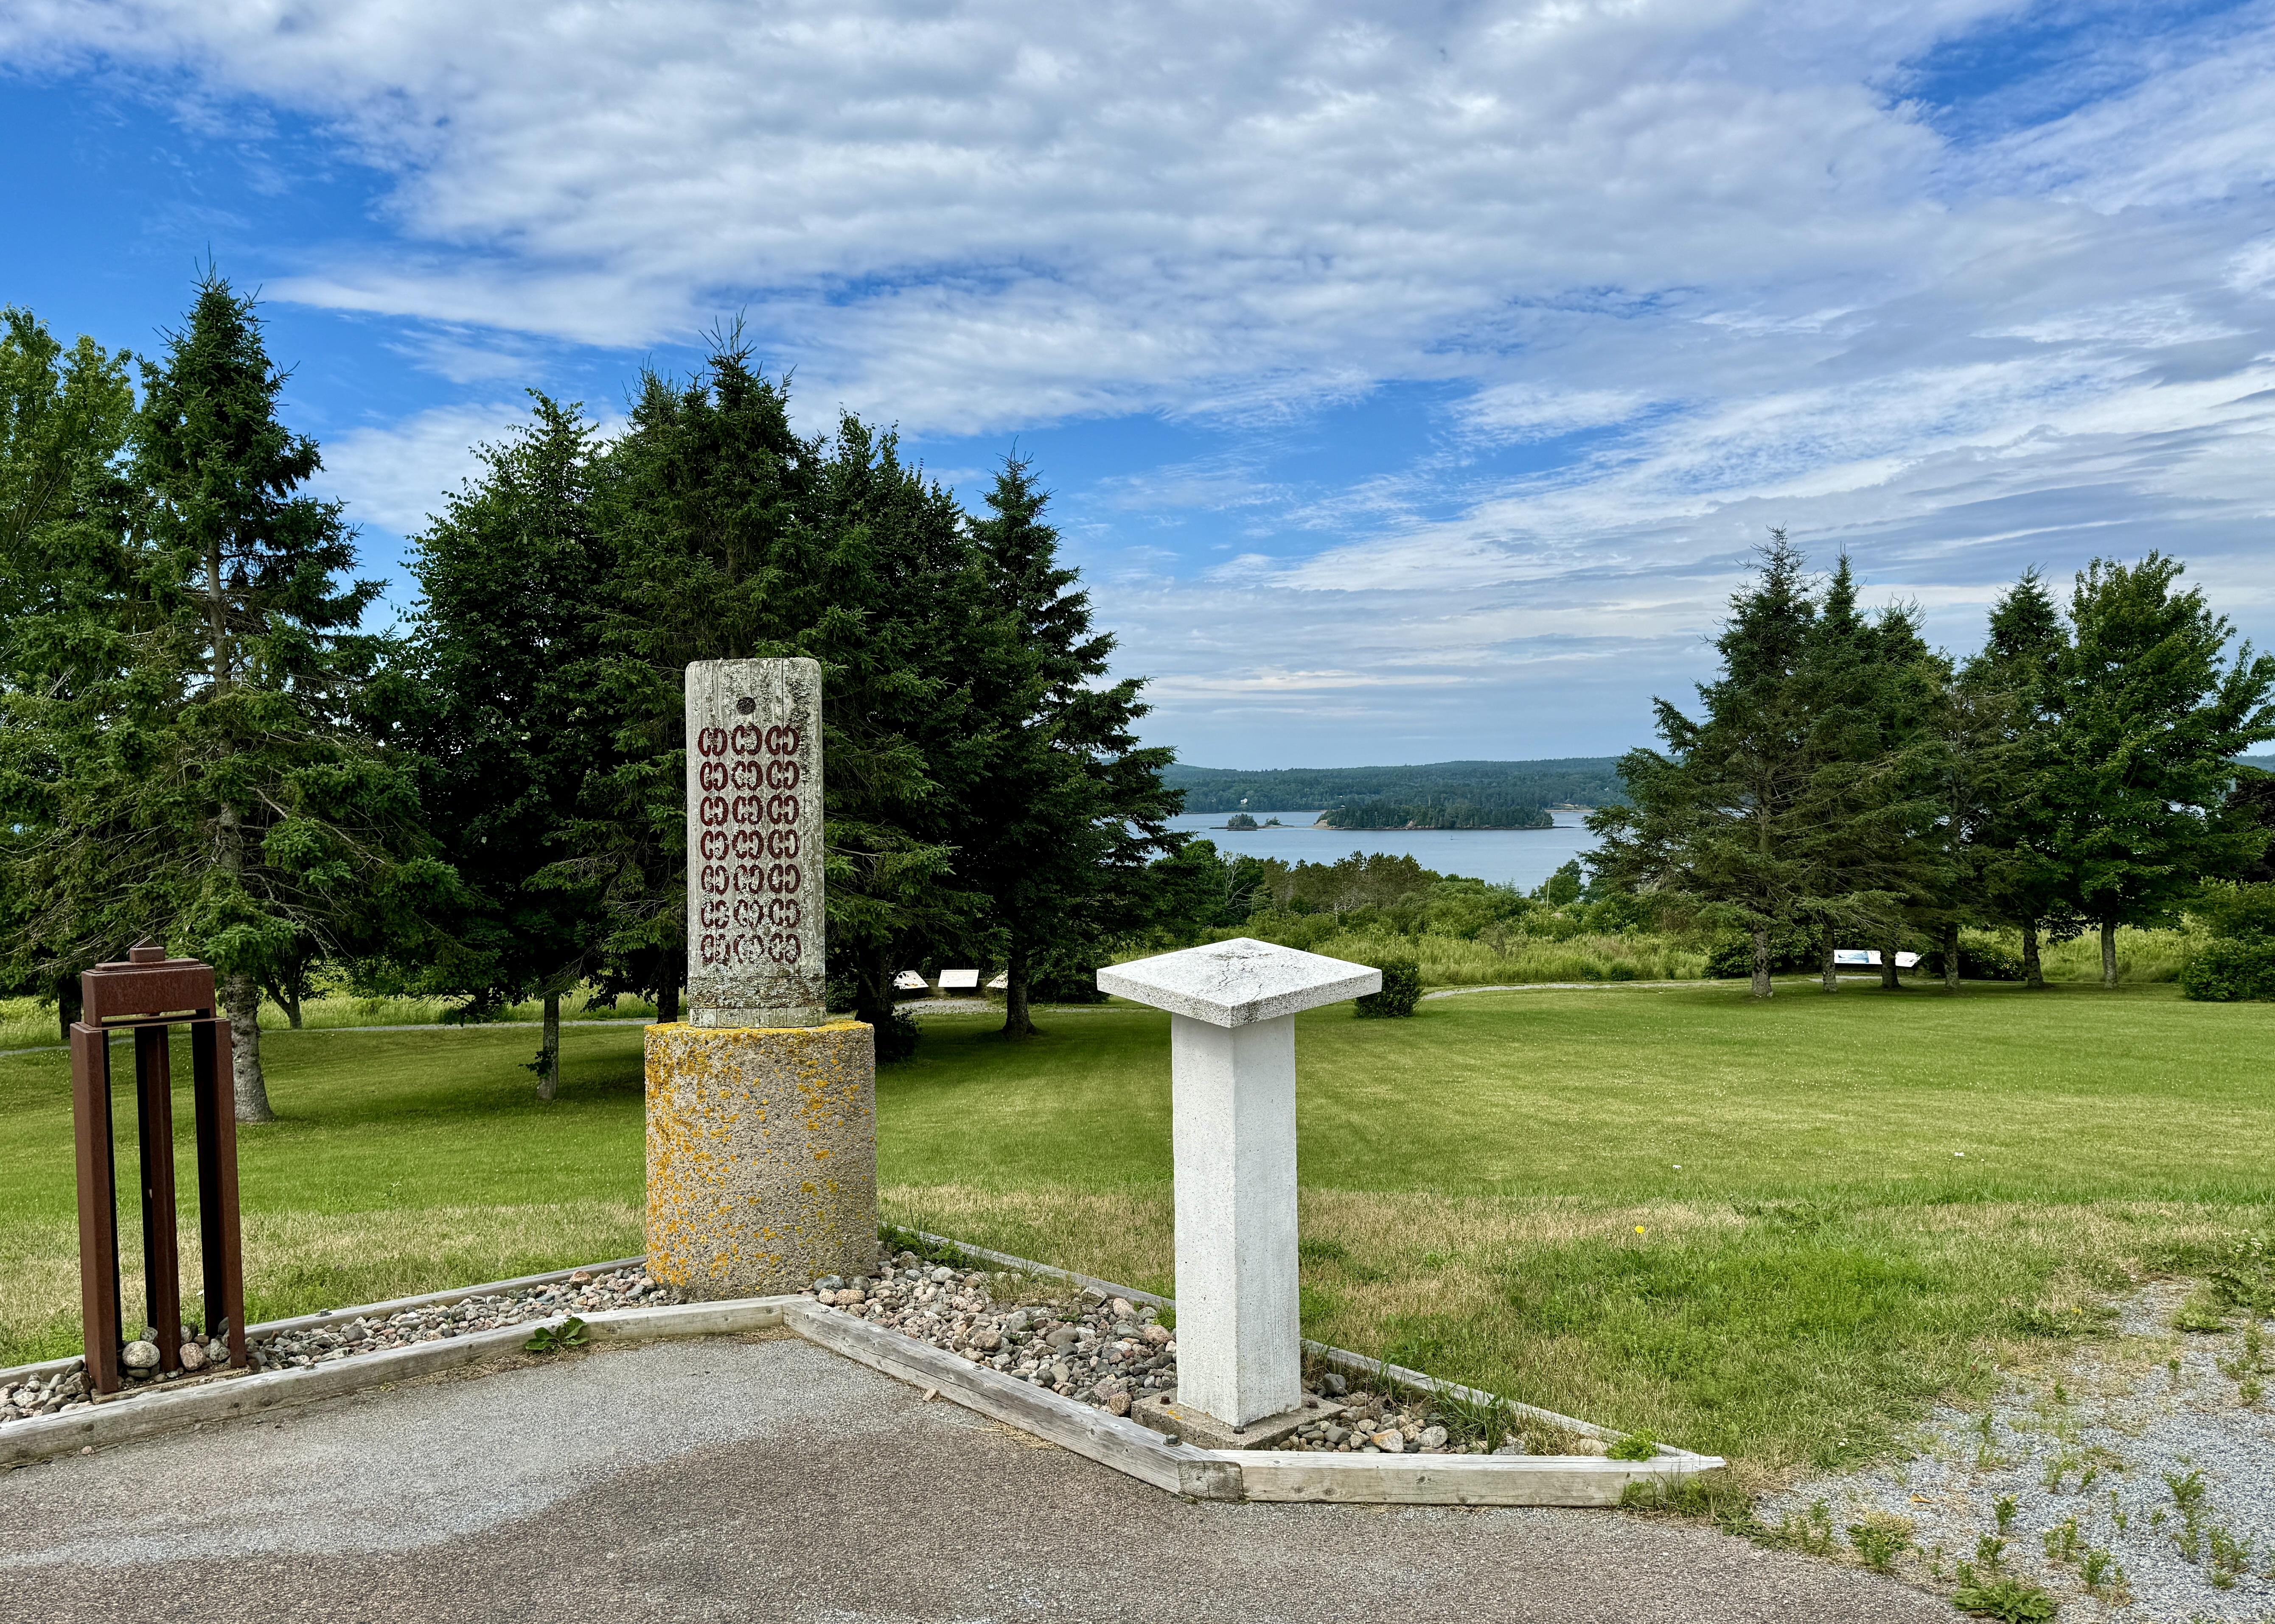
[[[2268,853],[2275,657],[2182,587],[2182,564],[2095,560],[2068,603],[2027,571],[1984,646],[1929,648],[1916,607],[1868,614],[1843,557],[1815,580],[1772,530],[1731,598],[1699,712],[1656,703],[1665,748],[1620,762],[1631,805],[1590,817],[1599,878],[1663,917],[1743,933],[1754,996],[1836,946],[1941,951],[2016,928],[2022,978],[2048,939],[2204,908]],[[2209,889],[2207,889],[2209,887]]]

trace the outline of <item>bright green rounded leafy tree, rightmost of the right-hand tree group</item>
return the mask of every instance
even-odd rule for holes
[[[2120,923],[2170,917],[2266,844],[2227,796],[2234,757],[2275,739],[2275,657],[2243,644],[2223,664],[2232,628],[2179,573],[2159,553],[2095,560],[2070,596],[2045,792],[2066,901],[2102,930],[2102,985]]]

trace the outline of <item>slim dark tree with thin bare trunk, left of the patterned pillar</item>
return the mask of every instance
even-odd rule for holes
[[[532,393],[532,421],[482,446],[482,475],[412,539],[423,591],[396,741],[469,889],[448,948],[412,980],[469,1012],[537,996],[537,1096],[560,1085],[560,1005],[605,955],[605,855],[576,846],[587,780],[607,773],[598,703],[607,555],[594,523],[598,444],[580,407]],[[676,985],[676,983],[673,983]]]

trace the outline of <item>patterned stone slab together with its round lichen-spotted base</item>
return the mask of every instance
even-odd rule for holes
[[[694,1296],[876,1267],[876,1044],[824,989],[821,666],[687,666],[687,1021],[651,1026],[648,1271]]]

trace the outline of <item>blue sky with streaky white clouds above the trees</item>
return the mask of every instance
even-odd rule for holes
[[[1891,16],[1891,11],[1895,16]],[[744,316],[1017,444],[1219,767],[1618,751],[1772,523],[1963,651],[2161,546],[2275,641],[2275,5],[0,5],[0,300],[212,252],[371,573]]]

